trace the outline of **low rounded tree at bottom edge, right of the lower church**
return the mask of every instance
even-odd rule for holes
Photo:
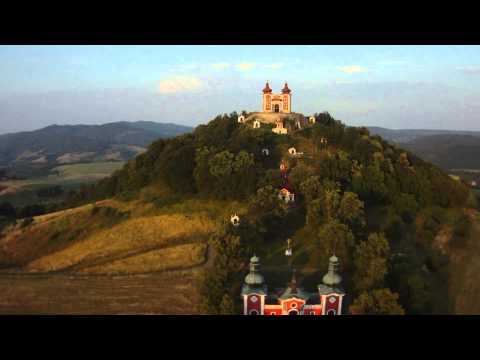
[[[376,289],[360,294],[349,310],[352,315],[405,315],[397,300],[398,294],[390,289]]]

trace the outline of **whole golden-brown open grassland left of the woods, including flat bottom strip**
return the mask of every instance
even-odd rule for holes
[[[207,239],[232,211],[225,201],[138,200],[37,216],[0,235],[0,314],[196,314]],[[151,202],[157,199],[157,202]],[[174,199],[175,200],[175,199]]]

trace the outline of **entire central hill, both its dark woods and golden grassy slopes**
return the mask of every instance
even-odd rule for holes
[[[278,197],[285,185],[280,163],[294,204]],[[465,254],[478,253],[470,189],[328,113],[287,135],[239,124],[236,113],[218,116],[192,133],[154,141],[78,198],[79,207],[12,220],[4,228],[0,290],[9,295],[0,300],[0,312],[108,307],[105,313],[123,313],[122,302],[137,313],[239,313],[253,252],[271,286],[291,276],[283,255],[287,238],[302,287],[321,281],[335,251],[347,312],[375,289],[391,292],[407,314],[478,311],[462,301],[467,291],[480,291],[480,279],[471,275],[475,262],[464,261]],[[238,227],[229,223],[234,213]],[[14,276],[18,286],[11,285]],[[50,277],[58,287],[34,285],[35,276]],[[161,291],[147,280],[148,288],[140,280],[114,287],[118,276],[155,277]],[[73,292],[87,294],[90,305],[87,295],[72,300]],[[68,308],[66,301],[72,301]]]

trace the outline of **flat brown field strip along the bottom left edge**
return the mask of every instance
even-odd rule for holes
[[[198,314],[195,273],[1,275],[0,314]]]

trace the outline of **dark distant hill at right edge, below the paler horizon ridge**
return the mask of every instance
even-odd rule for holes
[[[430,135],[402,146],[443,169],[480,169],[480,137],[477,136]]]

